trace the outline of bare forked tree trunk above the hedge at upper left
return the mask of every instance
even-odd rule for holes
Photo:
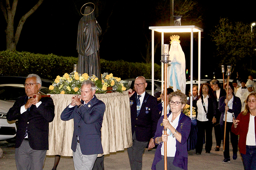
[[[20,33],[25,23],[26,19],[36,11],[36,9],[43,3],[44,0],[39,0],[25,15],[20,18],[19,24],[14,28],[14,16],[16,13],[18,0],[13,0],[12,4],[9,0],[1,0],[0,8],[4,14],[7,27],[5,30],[6,33],[6,49],[16,50],[17,43],[20,38]],[[5,3],[4,3],[5,2]],[[15,31],[16,30],[16,31]]]

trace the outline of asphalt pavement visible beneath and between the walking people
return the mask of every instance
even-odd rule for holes
[[[232,145],[229,144],[229,152],[231,157],[231,162],[224,164],[222,160],[223,148],[220,147],[220,151],[216,152],[214,147],[216,146],[214,129],[212,131],[213,145],[211,153],[205,153],[203,148],[201,155],[196,155],[195,150],[188,151],[188,170],[243,170],[243,162],[241,156],[238,152],[237,159],[232,160]],[[0,148],[4,152],[4,157],[0,159],[0,169],[1,170],[15,170],[15,148],[14,144],[9,144],[5,141],[0,142]],[[150,170],[154,159],[155,149],[148,151],[145,149],[143,154],[142,170]],[[46,156],[44,161],[44,170],[51,170],[54,164],[54,156]],[[129,158],[127,154],[127,149],[124,151],[118,151],[116,153],[111,153],[105,155],[104,167],[106,170],[129,170]],[[71,157],[60,158],[59,166],[57,170],[74,170],[73,159]]]

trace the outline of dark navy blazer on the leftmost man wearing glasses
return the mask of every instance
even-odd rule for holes
[[[54,104],[50,97],[41,98],[42,103],[36,108],[32,105],[20,114],[20,107],[28,101],[28,96],[19,97],[7,113],[7,120],[18,120],[15,148],[19,148],[28,127],[29,146],[34,150],[49,149],[49,122],[54,118]]]

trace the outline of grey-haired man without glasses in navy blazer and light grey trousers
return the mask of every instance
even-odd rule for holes
[[[94,82],[85,80],[81,96],[73,96],[71,104],[60,115],[63,121],[74,119],[71,149],[76,170],[91,170],[97,155],[103,153],[101,127],[106,106],[97,99],[95,92]]]

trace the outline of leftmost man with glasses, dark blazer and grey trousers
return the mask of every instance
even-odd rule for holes
[[[41,78],[29,74],[25,81],[26,96],[19,97],[7,113],[7,120],[18,120],[15,143],[17,170],[42,170],[48,147],[49,122],[54,118],[50,97],[41,98]]]

